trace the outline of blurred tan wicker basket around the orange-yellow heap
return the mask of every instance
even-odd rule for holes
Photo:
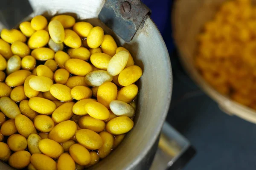
[[[203,91],[218,103],[219,108],[229,115],[236,115],[256,123],[256,111],[215,91],[204,81],[193,62],[197,48],[196,37],[204,24],[213,19],[223,2],[225,0],[175,1],[172,14],[173,36],[180,52],[183,67]]]

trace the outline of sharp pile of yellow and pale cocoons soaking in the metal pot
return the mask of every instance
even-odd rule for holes
[[[0,37],[1,161],[82,170],[133,128],[142,69],[101,27],[38,15]]]

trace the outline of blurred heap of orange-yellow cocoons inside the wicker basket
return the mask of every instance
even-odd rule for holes
[[[256,110],[256,6],[225,1],[197,38],[195,65],[223,95]]]

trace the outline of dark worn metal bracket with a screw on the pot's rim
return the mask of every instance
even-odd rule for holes
[[[140,0],[107,0],[99,19],[119,37],[130,42],[151,10]]]

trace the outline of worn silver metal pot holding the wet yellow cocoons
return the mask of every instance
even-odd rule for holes
[[[87,20],[101,26],[119,45],[127,48],[137,65],[143,69],[139,80],[140,92],[134,128],[126,135],[116,150],[93,166],[93,170],[141,169],[150,164],[157,139],[169,109],[172,94],[172,70],[163,38],[150,17],[145,17],[130,42],[125,42],[98,19],[105,0],[29,0],[34,13],[53,16],[73,14],[78,20]],[[131,8],[133,8],[131,6]],[[1,170],[10,170],[0,162]]]

